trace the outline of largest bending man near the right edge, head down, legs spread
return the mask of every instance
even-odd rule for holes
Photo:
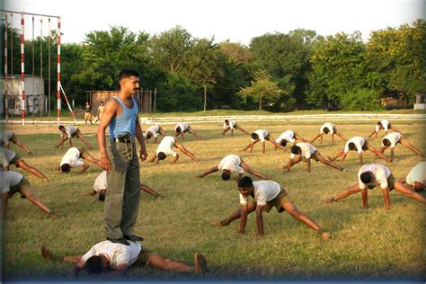
[[[395,182],[394,174],[392,174],[383,164],[365,164],[361,166],[358,172],[358,183],[352,185],[348,190],[342,191],[336,196],[329,198],[327,202],[332,203],[338,200],[342,200],[361,191],[362,208],[368,209],[367,189],[372,190],[377,186],[380,186],[382,189],[386,209],[390,209],[389,191],[392,190],[399,191],[405,196],[408,196],[409,198],[417,200],[423,204],[426,203],[426,199],[422,196],[422,194],[404,186],[402,182]]]

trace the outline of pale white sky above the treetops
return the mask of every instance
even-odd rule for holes
[[[192,37],[230,40],[249,45],[265,33],[314,30],[327,36],[398,28],[425,19],[426,0],[0,0],[3,10],[60,16],[62,42],[84,42],[90,31],[110,31],[124,26],[129,31],[159,34],[179,25]],[[10,13],[9,13],[10,14]],[[9,21],[10,21],[10,16]],[[13,27],[20,29],[20,14]],[[4,18],[4,14],[2,14]],[[25,39],[46,36],[48,18],[25,16]],[[42,19],[42,27],[40,20]],[[51,29],[57,28],[51,18]],[[41,31],[42,30],[42,31]]]

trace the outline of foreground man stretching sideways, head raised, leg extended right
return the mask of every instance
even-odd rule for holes
[[[257,235],[263,236],[265,233],[262,213],[263,211],[269,213],[272,207],[275,207],[279,213],[287,211],[289,215],[321,235],[324,240],[332,236],[324,228],[318,226],[313,219],[300,212],[278,182],[253,182],[250,177],[244,176],[238,182],[238,191],[240,191],[241,209],[237,209],[221,221],[212,222],[212,226],[228,226],[232,221],[240,219],[240,229],[236,233],[244,234],[248,214],[256,211]],[[250,197],[251,200],[249,200]]]

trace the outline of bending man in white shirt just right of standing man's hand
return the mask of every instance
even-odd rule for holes
[[[173,146],[181,150],[183,154],[188,155],[193,161],[197,162],[198,164],[202,164],[198,157],[187,150],[185,146],[183,146],[183,144],[173,136],[166,136],[163,138],[163,140],[161,140],[160,144],[156,148],[155,155],[151,158],[151,160],[149,160],[149,162],[153,163],[156,160],[156,164],[158,164],[168,155],[172,155],[174,157],[172,164],[176,163],[179,159],[179,154],[173,151]]]

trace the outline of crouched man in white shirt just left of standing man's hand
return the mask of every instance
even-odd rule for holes
[[[89,168],[90,164],[86,164],[83,161],[80,161],[80,158],[102,167],[101,162],[93,158],[93,156],[90,155],[89,152],[85,151],[84,148],[77,148],[73,146],[67,150],[67,153],[65,153],[65,155],[62,156],[62,160],[60,161],[60,164],[58,166],[58,173],[69,173],[71,171],[71,168],[74,168],[76,166],[82,167],[78,174],[84,173]]]

